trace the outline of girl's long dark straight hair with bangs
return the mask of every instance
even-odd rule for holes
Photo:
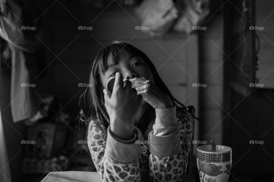
[[[92,63],[91,73],[89,76],[89,86],[80,96],[79,104],[80,108],[82,109],[78,114],[78,119],[81,122],[84,122],[87,126],[91,121],[94,122],[94,124],[102,130],[102,135],[105,138],[107,136],[106,129],[110,125],[110,121],[108,113],[104,106],[104,88],[102,86],[99,73],[101,72],[104,75],[106,70],[108,69],[107,58],[109,55],[112,56],[112,61],[114,64],[119,62],[117,60],[117,54],[122,49],[128,51],[130,54],[140,56],[150,68],[154,79],[154,84],[172,100],[173,104],[176,105],[175,102],[177,102],[179,104],[176,105],[177,107],[186,108],[184,104],[180,103],[172,96],[170,90],[168,90],[166,84],[164,84],[163,80],[160,78],[154,64],[144,52],[134,47],[127,41],[113,41],[110,45],[106,46],[96,55]],[[81,101],[83,102],[82,104],[84,107],[81,107]],[[151,121],[152,118],[155,118],[155,109],[150,106],[149,109],[143,114],[140,122],[138,122],[138,128],[142,131],[142,133],[144,132],[149,124],[149,121]]]

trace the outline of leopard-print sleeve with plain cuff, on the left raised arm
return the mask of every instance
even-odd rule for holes
[[[101,132],[100,128],[90,122],[88,148],[102,181],[141,181],[138,162],[140,144],[117,140],[110,132],[110,126],[107,128],[106,139]],[[137,136],[135,134],[134,141],[138,139]]]

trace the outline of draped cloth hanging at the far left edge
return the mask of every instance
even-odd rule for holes
[[[45,66],[41,52],[42,19],[31,0],[0,1],[0,37],[11,52],[11,112],[13,122],[35,116],[39,110],[39,73]],[[39,40],[40,39],[40,40]],[[3,52],[1,52],[3,54]],[[0,59],[1,65],[8,64]],[[45,73],[45,72],[44,72]],[[36,93],[35,93],[36,92]]]

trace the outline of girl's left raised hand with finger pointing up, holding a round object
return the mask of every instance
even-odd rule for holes
[[[108,89],[103,92],[112,132],[124,132],[127,128],[132,131],[134,119],[141,107],[142,95],[137,94],[129,80],[123,81],[120,72],[115,74],[112,94]]]

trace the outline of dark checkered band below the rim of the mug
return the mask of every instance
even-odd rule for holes
[[[207,162],[227,162],[231,159],[231,151],[225,153],[206,153],[197,150],[197,159]]]

